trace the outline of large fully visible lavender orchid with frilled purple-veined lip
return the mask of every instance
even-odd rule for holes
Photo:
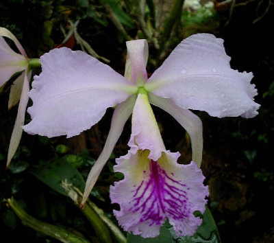
[[[198,184],[203,181],[201,172],[197,169],[201,165],[203,149],[201,120],[188,109],[206,111],[216,117],[254,117],[258,114],[259,105],[253,101],[257,91],[250,83],[252,73],[240,73],[231,69],[230,58],[225,54],[223,40],[212,34],[195,34],[183,40],[150,78],[147,77],[146,71],[147,59],[147,40],[127,42],[125,76],[121,76],[108,65],[104,65],[83,51],[71,51],[66,47],[53,49],[40,57],[42,73],[34,77],[33,89],[29,92],[29,97],[33,101],[33,106],[28,108],[32,121],[23,126],[26,132],[47,137],[60,135],[73,137],[99,122],[106,109],[117,104],[105,146],[88,175],[82,205],[86,202],[123,131],[125,122],[133,111],[133,133],[129,142],[131,148],[129,154],[117,161],[116,167],[117,171],[125,173],[125,179],[111,189],[112,200],[119,203],[121,203],[119,200],[121,195],[119,195],[119,189],[116,188],[125,187],[126,192],[129,192],[129,186],[132,185],[132,191],[136,192],[135,197],[138,193],[147,196],[143,188],[134,188],[134,185],[141,183],[142,178],[139,178],[139,181],[129,178],[134,173],[129,170],[134,170],[134,168],[139,170],[142,167],[137,164],[137,161],[149,162],[144,165],[147,166],[144,173],[150,174],[150,176],[146,175],[147,180],[151,179],[154,184],[157,180],[165,180],[164,185],[172,188],[171,190],[174,189],[175,197],[179,194],[184,197],[188,185],[189,188],[192,185],[197,188]],[[149,101],[144,97],[146,95]],[[144,100],[145,104],[142,104]],[[155,121],[151,120],[151,111],[144,111],[147,118],[140,111],[142,107],[150,109],[148,102],[171,114],[186,129],[191,139],[192,161],[197,163],[197,167],[193,162],[184,166],[175,164],[178,154],[165,150],[159,132],[156,131]],[[142,119],[145,120],[142,121]],[[138,122],[142,124],[138,125]],[[150,130],[150,126],[153,129]],[[124,161],[128,162],[124,163]],[[197,174],[197,178],[190,180],[187,172],[184,172],[184,167],[188,167],[190,174]],[[157,178],[155,170],[160,172]],[[180,173],[182,176],[179,176]],[[172,174],[175,178],[171,177]],[[169,183],[173,180],[173,185],[170,185]],[[142,181],[147,187],[151,187],[152,184],[146,181],[145,177]],[[160,181],[158,181],[159,185],[162,183]],[[204,188],[201,185],[200,187]],[[155,189],[150,188],[151,195],[154,195],[153,190]],[[164,190],[166,189],[162,189],[163,192],[159,195],[166,195],[166,197],[158,200],[159,202],[171,199],[168,196],[169,193]],[[195,200],[194,194],[195,189],[190,189],[189,198],[192,198],[191,200]],[[201,194],[206,196],[204,189]],[[124,196],[126,200],[129,200],[131,196],[134,197],[133,192],[129,196]],[[153,196],[149,196],[151,197]],[[144,200],[136,199],[136,202],[141,204]],[[188,201],[191,202],[191,200]],[[204,199],[201,201],[204,205]],[[174,201],[171,204],[173,203]],[[179,201],[178,205],[179,203],[182,201]],[[176,205],[174,205],[175,208]],[[187,205],[184,207],[186,211],[181,211],[181,213],[188,215],[191,218],[190,221],[194,220],[194,224],[197,225],[197,219],[193,219],[188,211],[190,207]],[[152,221],[155,222],[153,224],[155,228],[159,227],[158,224],[162,224],[163,218],[169,218],[175,226],[179,224],[175,216],[167,209],[164,213],[165,208],[167,208],[165,205],[157,209],[153,207],[153,210],[161,211],[159,217],[144,221],[140,227],[134,227],[132,222],[129,224],[127,218],[130,217],[130,210],[138,213],[136,220],[139,222],[148,216],[148,214],[141,216],[137,206],[130,208],[122,202],[121,212],[116,212],[116,216],[125,229],[135,233],[141,229],[145,232],[143,235],[153,235],[149,229],[145,230],[145,226],[152,225]],[[123,213],[125,213],[124,216]],[[179,214],[177,217],[181,216],[182,214]],[[151,217],[154,216],[151,214]],[[186,218],[189,219],[189,217]],[[182,230],[179,226],[176,230],[178,234],[192,233],[192,229]]]

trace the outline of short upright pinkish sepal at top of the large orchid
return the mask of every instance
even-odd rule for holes
[[[127,61],[125,62],[125,78],[138,85],[147,81],[147,58],[149,47],[147,40],[127,41]]]

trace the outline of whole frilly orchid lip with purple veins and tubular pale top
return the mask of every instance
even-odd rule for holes
[[[114,211],[125,231],[155,237],[169,220],[177,235],[192,235],[201,224],[193,212],[203,213],[208,189],[195,162],[179,165],[179,152],[164,147],[158,124],[149,104],[149,95],[139,87],[132,114],[132,135],[127,155],[116,160],[115,172],[124,179],[110,187]],[[185,227],[189,224],[189,227]]]

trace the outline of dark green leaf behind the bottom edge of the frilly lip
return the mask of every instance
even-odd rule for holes
[[[205,213],[203,213],[202,224],[197,229],[196,233],[192,236],[177,237],[171,224],[166,222],[160,229],[160,235],[155,238],[142,238],[140,235],[127,235],[128,243],[221,243],[218,229],[210,212],[210,209],[206,207]]]

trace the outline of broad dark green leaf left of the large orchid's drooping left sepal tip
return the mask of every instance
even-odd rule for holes
[[[32,174],[60,194],[68,196],[64,187],[62,187],[62,181],[73,184],[74,187],[84,192],[85,181],[82,174],[68,163],[66,159],[56,158],[43,162]]]

